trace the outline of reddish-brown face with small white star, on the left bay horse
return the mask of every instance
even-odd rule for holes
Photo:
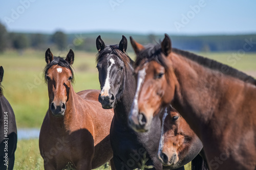
[[[66,102],[69,100],[71,80],[73,79],[70,69],[53,65],[47,75],[50,110],[56,117],[61,117],[66,111]]]

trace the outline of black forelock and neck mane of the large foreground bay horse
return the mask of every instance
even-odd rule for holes
[[[159,64],[161,64],[165,69],[168,69],[167,63],[166,63],[166,57],[162,55],[162,50],[161,50],[161,45],[160,44],[149,44],[145,46],[146,50],[141,51],[137,55],[137,59],[135,61],[135,66],[138,66],[142,59],[146,59],[147,61],[155,60]],[[234,78],[237,78],[239,80],[242,80],[246,83],[250,83],[253,85],[256,85],[256,80],[251,77],[246,75],[244,72],[239,71],[236,68],[232,68],[226,64],[222,64],[218,61],[211,60],[193,53],[189,53],[186,51],[179,50],[177,48],[172,48],[172,52],[182,55],[185,58],[188,58],[190,60],[193,60],[197,62],[200,65],[203,65],[207,68],[213,69],[213,70],[218,70],[222,72],[224,75],[228,75]]]

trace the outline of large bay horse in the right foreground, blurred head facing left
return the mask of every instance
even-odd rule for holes
[[[171,103],[203,142],[210,169],[256,169],[256,80],[172,48],[167,35],[157,45],[132,38],[131,43],[142,83],[130,118],[143,116],[146,131],[158,110]]]

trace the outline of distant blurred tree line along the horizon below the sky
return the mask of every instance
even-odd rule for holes
[[[122,33],[83,33],[83,34],[65,34],[62,31],[56,31],[53,34],[41,33],[14,33],[8,32],[4,25],[0,23],[0,52],[7,48],[22,52],[26,48],[36,50],[46,50],[48,47],[57,48],[59,51],[82,50],[88,52],[97,52],[95,40],[98,35],[107,44],[118,44],[121,35],[133,38],[142,44],[158,43],[163,35],[141,35],[141,34],[122,34]],[[170,35],[172,46],[187,51],[203,52],[223,52],[223,51],[245,51],[256,52],[256,34],[250,35],[209,35],[209,36],[177,36]],[[131,45],[128,46],[128,52],[132,52]]]

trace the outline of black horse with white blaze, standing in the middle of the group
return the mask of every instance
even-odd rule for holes
[[[114,108],[114,118],[110,130],[113,159],[117,169],[184,169],[183,159],[179,166],[163,166],[157,152],[161,134],[159,117],[152,120],[152,128],[146,133],[135,132],[128,123],[136,92],[136,80],[133,76],[134,61],[126,54],[127,39],[123,36],[119,45],[106,46],[100,36],[96,39],[97,68],[101,92],[99,102],[105,109]],[[198,139],[199,140],[199,139]],[[195,142],[196,143],[196,142]],[[193,148],[193,147],[192,147]],[[194,153],[185,151],[191,161],[201,151],[199,140],[194,145]],[[189,155],[190,154],[190,155]],[[189,162],[188,161],[188,162]]]

